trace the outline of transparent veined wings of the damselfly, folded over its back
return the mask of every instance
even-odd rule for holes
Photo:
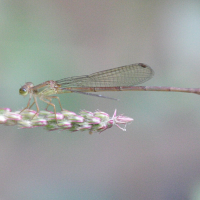
[[[146,82],[154,75],[151,67],[136,63],[85,76],[75,76],[56,81],[61,87],[116,87],[133,86]]]

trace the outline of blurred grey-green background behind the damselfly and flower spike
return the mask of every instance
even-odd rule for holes
[[[0,27],[0,106],[13,111],[28,102],[19,95],[27,81],[137,62],[155,71],[143,85],[200,85],[198,0],[1,0]],[[120,101],[59,97],[73,112],[100,109],[112,116],[117,109],[134,118],[126,132],[1,125],[0,199],[200,199],[200,96],[101,94]]]

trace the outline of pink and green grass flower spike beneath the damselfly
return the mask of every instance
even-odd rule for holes
[[[51,111],[40,111],[37,113],[34,110],[24,110],[11,112],[9,108],[0,109],[0,124],[7,126],[17,125],[19,128],[35,128],[44,127],[46,130],[69,130],[86,131],[89,133],[103,132],[113,125],[116,125],[123,131],[126,131],[126,125],[133,121],[132,118],[116,115],[116,110],[112,117],[102,111],[95,111],[94,113],[86,110],[82,110],[79,114],[74,112],[63,110],[60,113]],[[124,128],[120,125],[125,125]]]

